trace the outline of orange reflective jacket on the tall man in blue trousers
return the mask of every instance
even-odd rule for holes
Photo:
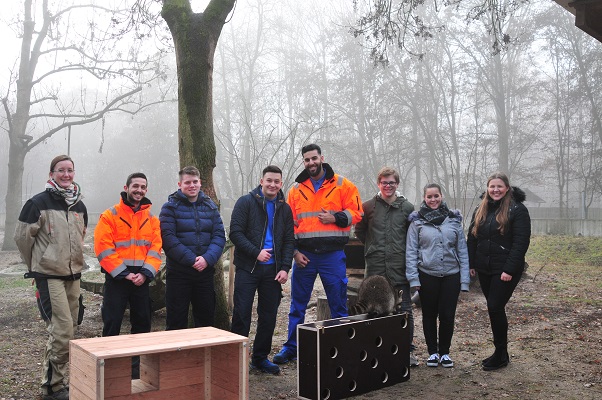
[[[342,250],[349,241],[351,225],[360,222],[364,214],[355,185],[335,174],[328,164],[323,163],[322,168],[326,178],[317,192],[309,174],[303,171],[295,180],[297,183],[289,191],[287,200],[293,210],[297,248],[314,253]],[[322,209],[335,215],[337,223],[321,223],[318,214],[323,212]]]

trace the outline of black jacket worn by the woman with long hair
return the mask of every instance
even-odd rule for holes
[[[502,272],[515,275],[524,270],[525,253],[531,240],[531,218],[527,207],[523,205],[525,199],[525,192],[517,187],[512,188],[512,202],[508,213],[509,229],[503,235],[495,220],[499,201],[489,203],[487,216],[479,226],[477,236],[472,234],[475,210],[467,239],[471,269],[488,275]]]

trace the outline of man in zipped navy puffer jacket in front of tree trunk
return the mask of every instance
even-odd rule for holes
[[[167,330],[188,327],[190,304],[195,328],[213,325],[214,266],[226,244],[217,205],[201,191],[199,170],[184,167],[179,175],[179,189],[169,195],[159,215],[167,256]]]

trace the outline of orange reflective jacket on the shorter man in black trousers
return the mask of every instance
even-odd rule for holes
[[[94,231],[94,251],[102,269],[113,278],[130,267],[141,267],[154,277],[161,266],[161,228],[159,218],[150,212],[144,198],[137,212],[118,204],[100,215]],[[148,274],[144,274],[147,275]]]

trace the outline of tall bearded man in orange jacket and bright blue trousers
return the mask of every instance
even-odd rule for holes
[[[274,356],[285,364],[297,357],[297,325],[305,322],[305,310],[319,274],[332,318],[347,316],[345,245],[351,225],[361,221],[362,202],[357,188],[324,163],[317,144],[301,149],[305,170],[288,194],[295,223],[295,252],[291,279],[288,339]]]

